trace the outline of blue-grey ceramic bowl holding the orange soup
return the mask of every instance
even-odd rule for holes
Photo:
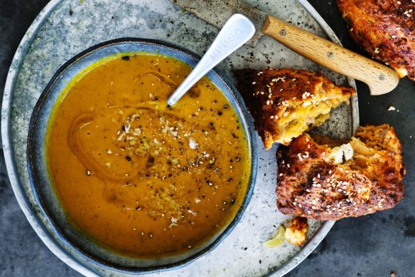
[[[69,224],[65,211],[60,206],[58,197],[53,190],[45,162],[45,137],[50,114],[60,94],[70,80],[93,63],[119,53],[146,52],[158,53],[163,56],[170,56],[179,61],[194,67],[199,57],[194,53],[179,46],[173,46],[163,41],[154,41],[138,38],[121,38],[114,41],[107,41],[89,48],[70,61],[65,63],[48,83],[41,94],[31,117],[28,133],[28,172],[31,180],[33,194],[46,219],[51,236],[58,240],[58,243],[67,249],[72,256],[82,257],[82,262],[87,263],[90,268],[103,266],[119,273],[149,273],[163,271],[185,266],[191,261],[207,254],[230,234],[242,217],[247,208],[254,190],[254,182],[257,174],[257,143],[254,135],[254,127],[251,117],[247,113],[241,95],[224,75],[211,70],[208,78],[212,80],[217,88],[224,93],[234,108],[242,123],[245,135],[249,141],[249,155],[251,159],[251,172],[249,187],[244,201],[235,218],[227,226],[220,230],[212,239],[203,245],[190,249],[184,254],[167,256],[161,258],[129,258],[116,254],[102,248],[87,238],[85,234]]]

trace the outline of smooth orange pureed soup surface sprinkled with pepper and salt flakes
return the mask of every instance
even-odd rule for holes
[[[247,139],[230,103],[203,78],[170,108],[190,72],[170,57],[99,61],[68,85],[49,122],[54,189],[70,221],[98,244],[168,256],[210,239],[247,191]]]

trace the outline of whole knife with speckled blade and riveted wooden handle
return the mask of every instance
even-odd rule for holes
[[[304,31],[290,23],[259,11],[238,0],[171,0],[200,19],[222,28],[232,14],[244,14],[257,32],[247,46],[255,47],[263,35],[274,38],[292,51],[340,74],[361,80],[370,95],[389,93],[399,83],[397,73],[380,63],[365,58],[337,44]]]

